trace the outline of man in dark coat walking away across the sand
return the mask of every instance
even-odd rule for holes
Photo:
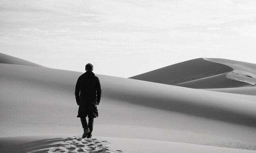
[[[85,73],[82,74],[76,82],[76,103],[79,105],[77,117],[81,118],[83,126],[82,138],[92,138],[94,118],[97,118],[98,109],[101,100],[101,84],[99,78],[92,72],[91,63],[86,64]],[[86,117],[88,116],[88,124]]]

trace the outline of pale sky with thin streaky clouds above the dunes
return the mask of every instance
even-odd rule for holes
[[[132,77],[196,58],[256,63],[256,0],[1,0],[0,52]]]

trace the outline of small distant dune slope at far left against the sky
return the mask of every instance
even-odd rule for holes
[[[20,58],[13,57],[13,56],[10,56],[10,55],[6,55],[6,54],[3,54],[3,53],[0,53],[0,63],[16,64],[16,65],[24,65],[24,66],[44,67],[44,66],[40,66],[36,63],[32,63],[30,61],[26,61],[24,59],[20,59]]]

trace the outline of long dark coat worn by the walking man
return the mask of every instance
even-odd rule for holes
[[[87,71],[78,78],[75,96],[79,105],[77,117],[99,116],[97,103],[101,100],[101,84],[93,72]]]

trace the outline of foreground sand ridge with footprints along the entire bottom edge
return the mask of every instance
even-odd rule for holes
[[[50,136],[49,136],[50,137]],[[38,140],[39,139],[39,140]],[[29,141],[28,141],[29,140]],[[97,137],[91,139],[82,139],[77,137],[69,138],[44,138],[39,137],[12,137],[0,138],[2,147],[1,152],[19,153],[150,153],[150,152],[179,152],[179,153],[254,153],[255,151],[246,149],[255,149],[255,146],[244,147],[243,149],[234,149],[227,147],[216,147],[197,144],[186,144],[179,142],[167,142],[157,140],[143,140],[131,138],[111,138]],[[12,144],[8,143],[11,142]],[[13,144],[14,142],[14,144]],[[112,143],[110,143],[112,142]],[[239,147],[243,144],[236,144],[233,147]],[[10,146],[15,146],[10,147]],[[118,150],[122,148],[123,150]]]

